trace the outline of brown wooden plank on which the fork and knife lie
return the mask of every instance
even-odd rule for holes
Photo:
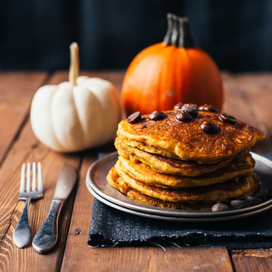
[[[62,80],[63,75],[55,75],[49,83]],[[82,154],[62,155],[50,151],[33,135],[29,120],[26,122],[0,168],[0,271],[59,270],[76,188],[64,206],[59,227],[60,238],[56,246],[44,255],[35,252],[30,245],[25,249],[18,249],[12,241],[12,234],[24,206],[24,202],[18,201],[20,168],[23,162],[28,161],[41,161],[43,167],[44,198],[30,204],[30,224],[34,235],[48,213],[64,162],[79,169],[81,156]]]

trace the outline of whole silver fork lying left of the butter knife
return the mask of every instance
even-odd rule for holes
[[[19,219],[17,226],[13,232],[13,241],[15,245],[19,248],[22,248],[28,244],[31,238],[31,227],[29,225],[28,218],[28,207],[31,199],[39,199],[43,197],[43,176],[42,176],[42,166],[41,163],[38,162],[38,189],[36,190],[36,163],[32,163],[32,190],[31,190],[31,164],[27,164],[27,175],[25,182],[25,169],[26,165],[22,164],[21,170],[21,181],[20,181],[20,200],[26,200],[25,207]],[[25,186],[26,183],[26,186]],[[25,188],[26,187],[26,188]]]

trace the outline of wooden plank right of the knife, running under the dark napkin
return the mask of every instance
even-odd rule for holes
[[[122,73],[95,76],[110,80],[117,88],[123,78]],[[90,248],[87,240],[93,197],[85,179],[95,159],[95,152],[88,152],[83,161],[61,271],[232,271],[225,248],[167,247],[165,252],[157,247]]]

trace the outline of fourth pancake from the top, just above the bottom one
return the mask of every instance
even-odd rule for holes
[[[255,175],[240,177],[239,181],[225,181],[223,183],[212,184],[203,187],[186,188],[186,189],[166,189],[153,185],[147,185],[144,182],[137,181],[128,174],[115,168],[118,175],[131,186],[143,194],[171,202],[222,202],[230,198],[244,195],[245,193],[254,192],[259,184]]]

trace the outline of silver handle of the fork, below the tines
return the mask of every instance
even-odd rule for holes
[[[26,246],[31,238],[31,228],[28,218],[29,202],[30,198],[27,198],[19,222],[13,232],[13,241],[19,248]]]

